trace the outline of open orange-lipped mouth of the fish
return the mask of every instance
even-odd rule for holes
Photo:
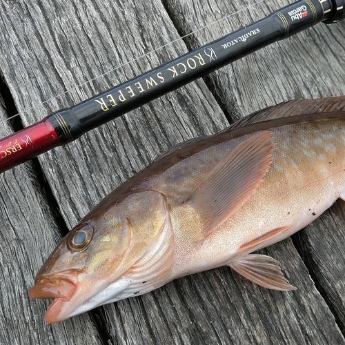
[[[29,296],[32,298],[54,299],[46,311],[46,322],[55,324],[56,322],[67,319],[66,311],[63,311],[66,302],[75,295],[77,290],[76,276],[51,275],[37,277],[34,286],[29,290]]]

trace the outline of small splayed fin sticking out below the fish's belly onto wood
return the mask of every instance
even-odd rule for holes
[[[252,282],[273,290],[296,290],[284,278],[278,262],[272,257],[259,254],[248,254],[238,261],[229,264],[233,270]]]

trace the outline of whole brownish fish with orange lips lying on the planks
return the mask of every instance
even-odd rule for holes
[[[70,230],[30,288],[53,299],[46,322],[230,266],[294,290],[253,253],[345,199],[345,97],[288,101],[157,157]]]

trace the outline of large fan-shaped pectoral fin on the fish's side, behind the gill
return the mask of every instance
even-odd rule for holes
[[[270,168],[272,132],[242,141],[197,184],[185,203],[200,217],[201,239],[218,228],[255,192]]]

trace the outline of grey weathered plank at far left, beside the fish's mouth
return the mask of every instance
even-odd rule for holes
[[[6,137],[12,130],[1,103],[0,97],[0,136]],[[85,337],[88,344],[99,344],[90,315],[51,327],[39,312],[48,303],[28,296],[61,236],[32,164],[0,175],[0,203],[0,344],[82,344]]]

